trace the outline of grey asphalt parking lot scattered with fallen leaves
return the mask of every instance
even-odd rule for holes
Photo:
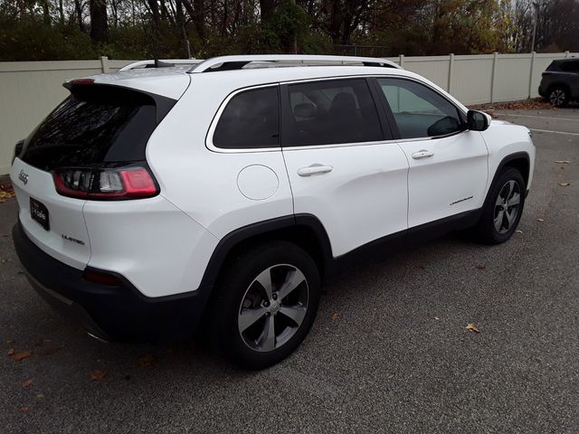
[[[495,116],[534,129],[520,232],[347,272],[298,352],[263,372],[198,342],[82,334],[24,278],[15,202],[0,203],[0,432],[579,433],[579,109]]]

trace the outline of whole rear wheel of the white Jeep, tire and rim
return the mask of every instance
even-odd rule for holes
[[[320,288],[316,263],[295,244],[271,241],[245,250],[215,288],[210,340],[242,368],[279,363],[308,335]]]

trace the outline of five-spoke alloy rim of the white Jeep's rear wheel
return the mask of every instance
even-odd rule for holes
[[[289,264],[264,269],[242,297],[237,325],[244,344],[271,352],[286,344],[308,311],[309,288],[304,274]]]

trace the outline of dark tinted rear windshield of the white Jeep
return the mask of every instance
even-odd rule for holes
[[[166,107],[166,98],[156,99]],[[156,99],[111,86],[72,88],[28,137],[21,158],[47,171],[145,160],[148,138],[160,120]]]

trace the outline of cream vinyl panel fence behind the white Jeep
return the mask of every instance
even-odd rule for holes
[[[434,81],[465,104],[536,97],[541,72],[569,52],[389,58]],[[62,99],[65,80],[118,71],[131,61],[0,62],[0,175],[10,170],[14,144]]]

